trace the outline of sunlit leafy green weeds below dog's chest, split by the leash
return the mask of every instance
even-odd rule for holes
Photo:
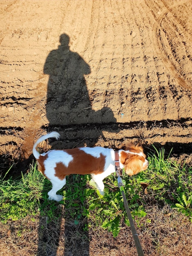
[[[129,184],[129,177],[125,176],[123,178],[123,184],[125,184],[125,191],[129,200],[129,207],[132,211],[132,216],[137,216],[138,218],[146,215],[143,206],[139,205],[137,200],[139,198],[138,192],[140,187],[134,188]],[[92,193],[87,198],[89,211],[91,212],[90,216],[92,222],[97,223],[97,225],[108,229],[112,232],[113,236],[118,236],[118,233],[121,229],[122,223],[129,226],[129,220],[127,218],[127,213],[125,211],[123,198],[121,191],[118,188],[116,175],[112,174],[107,177],[105,181],[105,195],[101,196],[98,191],[96,195]]]

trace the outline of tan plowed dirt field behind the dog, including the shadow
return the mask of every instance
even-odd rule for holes
[[[54,148],[131,140],[191,157],[191,13],[191,0],[0,0],[2,170],[52,130]]]

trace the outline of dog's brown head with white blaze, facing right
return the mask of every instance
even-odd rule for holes
[[[145,171],[149,165],[143,148],[134,144],[129,144],[121,151],[120,162],[125,168],[125,173],[130,176]]]

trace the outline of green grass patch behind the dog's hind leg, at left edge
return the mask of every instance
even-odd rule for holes
[[[46,210],[46,215],[54,218],[56,203],[51,202],[50,209],[46,209],[49,203],[47,193],[44,192],[45,186],[48,190],[51,188],[50,182],[37,170],[36,164],[32,164],[29,172],[21,174],[17,179],[2,178],[0,180],[0,221],[5,223],[8,220],[25,218],[27,215],[43,215]]]

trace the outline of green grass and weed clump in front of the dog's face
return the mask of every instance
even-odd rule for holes
[[[161,205],[169,204],[192,221],[192,167],[180,165],[169,156],[165,159],[164,148],[149,156],[145,178],[149,181],[150,193]]]

